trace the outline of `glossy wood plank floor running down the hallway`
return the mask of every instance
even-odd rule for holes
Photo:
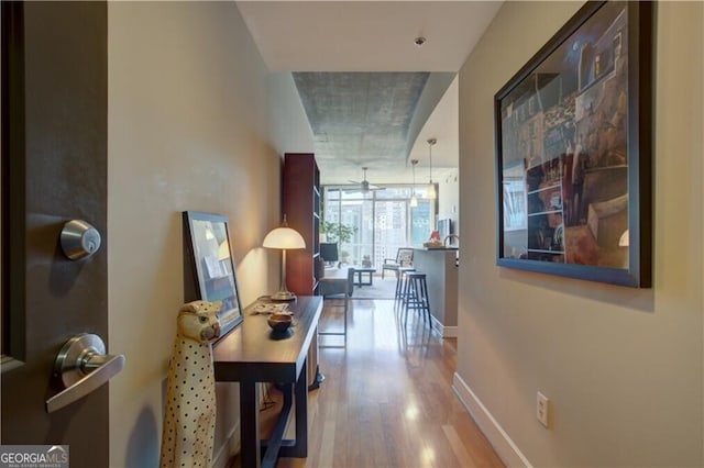
[[[341,303],[326,300],[320,331],[341,330]],[[415,314],[404,326],[393,300],[351,300],[346,345],[337,335],[319,343],[326,380],[309,397],[308,458],[278,467],[504,466],[452,391],[457,339]]]

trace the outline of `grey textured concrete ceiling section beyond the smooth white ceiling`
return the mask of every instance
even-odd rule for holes
[[[454,74],[294,73],[321,170],[370,178],[406,166]],[[432,79],[431,79],[432,76]]]

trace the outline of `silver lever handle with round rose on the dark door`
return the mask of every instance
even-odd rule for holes
[[[54,378],[64,390],[46,400],[53,413],[97,390],[124,367],[123,355],[107,355],[100,336],[81,333],[62,347],[54,361]]]

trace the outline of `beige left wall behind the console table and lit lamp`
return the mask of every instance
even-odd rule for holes
[[[279,223],[280,154],[312,151],[289,74],[270,74],[233,2],[110,2],[108,252],[110,465],[156,466],[183,303],[183,210],[230,220],[242,302],[278,285],[261,248]],[[238,426],[219,385],[216,449]],[[218,460],[224,461],[227,453]]]

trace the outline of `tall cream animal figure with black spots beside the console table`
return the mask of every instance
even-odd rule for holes
[[[220,336],[221,302],[194,301],[178,311],[176,341],[168,364],[161,467],[212,464],[216,381],[212,341]]]

